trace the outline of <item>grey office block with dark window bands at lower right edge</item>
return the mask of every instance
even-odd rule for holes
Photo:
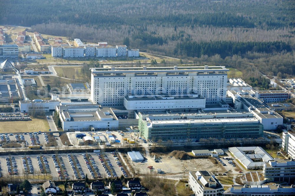
[[[295,161],[275,159],[264,162],[264,178],[268,181],[284,181],[290,185],[295,183]]]

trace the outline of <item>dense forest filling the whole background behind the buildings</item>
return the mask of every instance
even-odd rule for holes
[[[287,77],[295,75],[294,13],[293,0],[10,0],[0,24],[191,61],[217,55],[230,67],[240,58],[250,70]]]

